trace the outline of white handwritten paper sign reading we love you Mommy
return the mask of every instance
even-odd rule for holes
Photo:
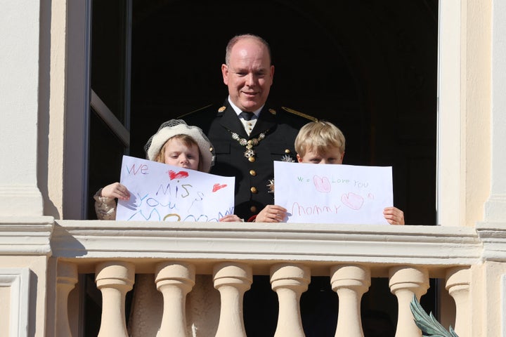
[[[317,165],[274,161],[276,205],[288,223],[388,225],[394,205],[391,166]]]

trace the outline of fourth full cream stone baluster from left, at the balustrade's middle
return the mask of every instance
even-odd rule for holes
[[[303,337],[300,297],[311,282],[311,270],[303,265],[280,263],[271,267],[271,286],[278,293],[279,315],[275,337]]]

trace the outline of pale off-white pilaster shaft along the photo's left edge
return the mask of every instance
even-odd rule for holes
[[[3,1],[0,14],[0,216],[41,216],[37,187],[39,1]]]

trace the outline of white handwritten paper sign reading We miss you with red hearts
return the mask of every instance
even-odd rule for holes
[[[233,214],[234,177],[123,156],[120,182],[130,199],[118,201],[117,220],[211,222]]]

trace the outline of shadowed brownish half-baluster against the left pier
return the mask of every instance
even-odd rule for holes
[[[68,296],[77,283],[77,265],[58,262],[56,277],[56,336],[72,337],[68,320]]]

